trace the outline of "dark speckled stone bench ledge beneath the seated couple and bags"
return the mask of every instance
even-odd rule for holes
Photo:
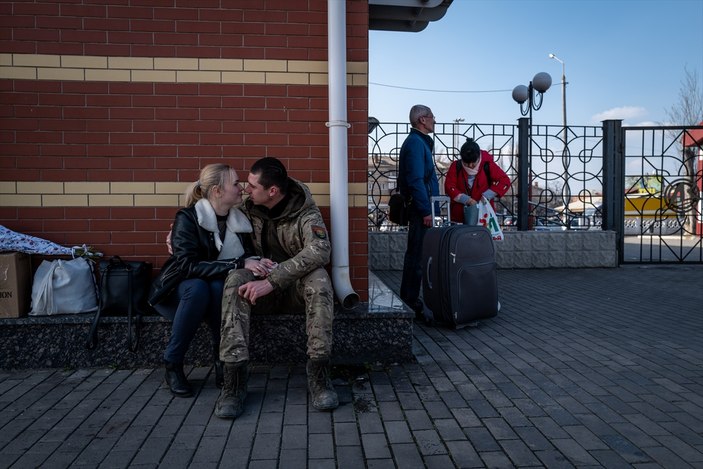
[[[412,361],[412,312],[369,274],[368,303],[335,311],[333,363],[362,365]],[[127,319],[104,317],[99,342],[85,342],[93,314],[0,319],[0,369],[137,368],[162,365],[171,331],[160,316],[142,319],[136,352],[127,348]],[[305,318],[301,314],[256,315],[251,324],[251,360],[262,364],[299,364],[305,354]],[[212,364],[212,340],[203,324],[186,355],[190,365]]]

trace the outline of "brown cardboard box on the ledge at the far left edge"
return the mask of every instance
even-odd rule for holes
[[[0,318],[26,316],[32,301],[29,254],[0,253]]]

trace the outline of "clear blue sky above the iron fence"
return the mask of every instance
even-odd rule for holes
[[[439,122],[512,124],[512,89],[547,72],[533,120],[560,125],[562,65],[549,53],[565,63],[569,125],[670,123],[685,68],[703,90],[703,0],[454,0],[424,31],[369,36],[369,115],[381,122],[421,103]]]

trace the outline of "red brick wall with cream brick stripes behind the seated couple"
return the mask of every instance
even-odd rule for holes
[[[347,61],[361,69],[367,8],[347,1]],[[178,206],[163,200],[176,195],[130,184],[185,184],[221,160],[246,179],[257,158],[276,156],[311,184],[329,225],[326,0],[19,1],[0,4],[0,18],[0,224],[158,266]],[[203,69],[202,59],[227,65]],[[252,75],[209,82],[211,69],[224,77],[238,59],[235,75]],[[191,72],[200,75],[181,80]],[[348,87],[349,182],[364,188],[365,73]],[[74,193],[73,182],[95,186]],[[350,260],[365,297],[366,207],[356,195]],[[150,203],[159,197],[170,199]]]

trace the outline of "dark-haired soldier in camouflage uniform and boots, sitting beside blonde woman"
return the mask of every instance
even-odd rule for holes
[[[329,377],[333,289],[324,268],[332,249],[322,214],[310,190],[289,178],[276,158],[258,160],[247,179],[244,212],[254,228],[256,253],[277,264],[263,275],[239,269],[227,277],[220,342],[225,385],[215,415],[234,419],[244,410],[252,311],[304,311],[312,404],[318,410],[334,409],[339,402]]]

